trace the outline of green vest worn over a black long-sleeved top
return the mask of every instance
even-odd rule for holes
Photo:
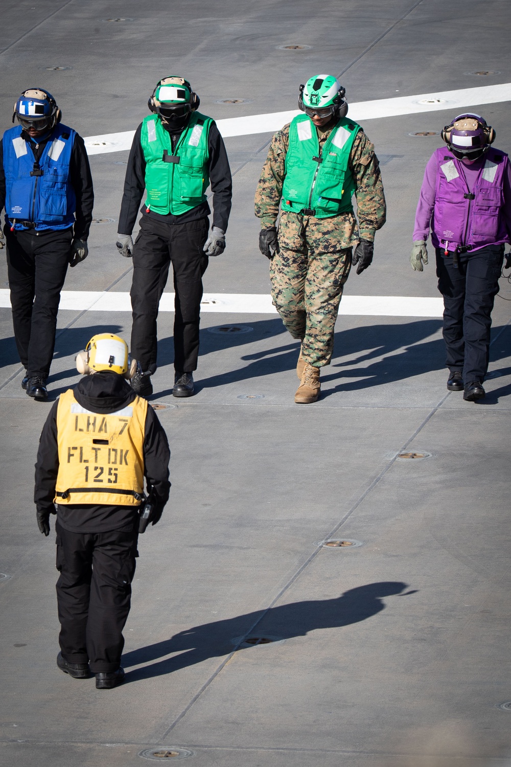
[[[140,143],[146,159],[146,207],[166,216],[196,208],[206,199],[208,176],[208,133],[211,117],[192,112],[172,153],[169,133],[157,114],[142,122]]]

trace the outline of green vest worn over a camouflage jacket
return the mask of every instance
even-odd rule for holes
[[[306,114],[290,124],[282,209],[316,219],[352,212],[355,181],[348,160],[360,126],[341,117],[319,154],[316,126]],[[311,212],[310,212],[311,211]]]

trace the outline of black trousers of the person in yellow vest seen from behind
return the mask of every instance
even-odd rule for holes
[[[68,663],[115,671],[131,604],[136,532],[77,533],[57,522],[59,644]]]

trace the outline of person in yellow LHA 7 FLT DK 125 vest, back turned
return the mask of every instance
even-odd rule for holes
[[[124,679],[144,477],[156,525],[169,499],[170,451],[156,413],[126,380],[136,360],[122,338],[91,338],[77,370],[85,377],[61,394],[41,433],[34,501],[44,535],[57,514],[57,666],[77,679],[92,672],[102,690]]]

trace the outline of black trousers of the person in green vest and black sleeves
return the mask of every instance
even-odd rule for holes
[[[130,295],[131,354],[144,371],[156,370],[156,318],[171,262],[175,288],[174,367],[187,373],[197,369],[202,275],[208,267],[208,256],[202,248],[208,226],[208,219],[165,224],[142,216],[133,249]]]

